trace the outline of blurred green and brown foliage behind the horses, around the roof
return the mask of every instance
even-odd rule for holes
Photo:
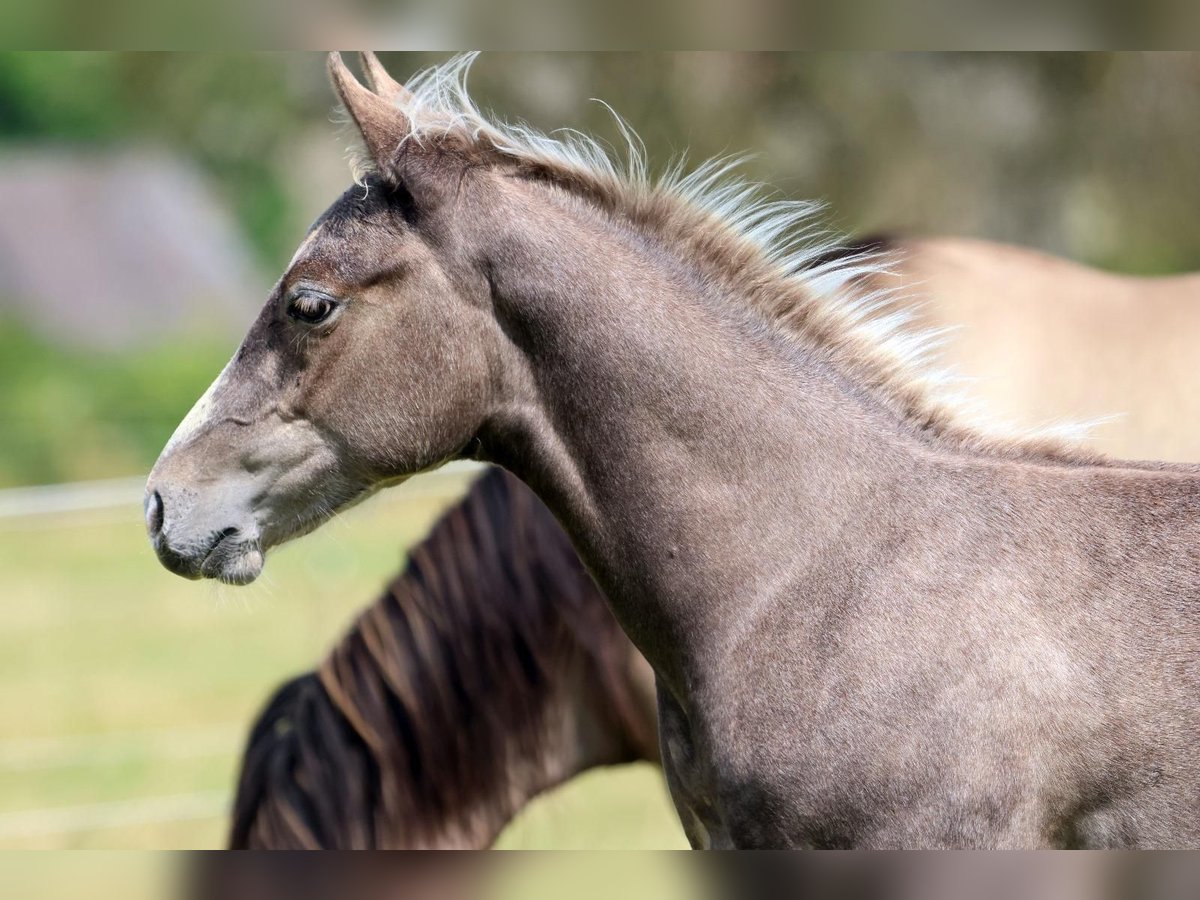
[[[442,56],[385,58],[402,78]],[[588,102],[601,97],[660,166],[752,151],[749,175],[827,200],[841,230],[986,236],[1127,272],[1200,268],[1194,54],[499,53],[473,85],[509,118],[616,140]],[[194,304],[199,325],[102,348],[30,320],[38,299],[13,296],[0,241],[0,485],[152,462],[347,184],[350,138],[332,113],[314,53],[0,54],[0,175],[11,154],[167,152],[229,212],[256,272],[232,322],[206,325],[180,283],[151,301]]]

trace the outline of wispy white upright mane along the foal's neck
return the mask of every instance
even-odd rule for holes
[[[1061,442],[1079,440],[1094,425],[1057,424],[1031,432],[997,424],[966,395],[961,377],[934,365],[953,329],[918,329],[914,313],[919,304],[895,289],[864,288],[877,276],[893,275],[898,258],[877,252],[836,253],[845,239],[822,227],[818,214],[823,205],[780,199],[769,187],[743,180],[737,169],[745,157],[709,160],[690,172],[680,158],[654,176],[641,138],[607,104],[624,143],[620,152],[572,128],[545,133],[486,115],[467,89],[478,55],[457,55],[407,82],[410,97],[402,103],[402,112],[412,125],[408,139],[424,143],[457,134],[515,160],[582,176],[613,196],[673,197],[707,214],[754,245],[784,282],[811,298],[804,310],[810,323],[839,335],[838,343],[848,353],[869,358],[896,394],[919,396],[922,418],[953,421],[959,430],[978,436],[974,443],[980,446],[996,439],[1001,449],[1006,440],[1032,442],[1058,454],[1064,450]],[[832,262],[818,263],[821,259]]]

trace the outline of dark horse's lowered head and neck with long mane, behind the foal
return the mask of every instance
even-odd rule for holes
[[[486,846],[575,772],[656,760],[636,660],[553,516],[491,470],[270,700],[229,844]]]

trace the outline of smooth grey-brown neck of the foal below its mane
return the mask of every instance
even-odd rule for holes
[[[554,510],[655,671],[689,680],[728,604],[791,581],[798,535],[821,544],[894,478],[900,422],[598,217],[551,204],[503,258],[512,349],[482,454]]]

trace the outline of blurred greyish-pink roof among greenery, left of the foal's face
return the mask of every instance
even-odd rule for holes
[[[241,334],[263,280],[187,162],[146,149],[0,156],[0,313],[66,342]]]

